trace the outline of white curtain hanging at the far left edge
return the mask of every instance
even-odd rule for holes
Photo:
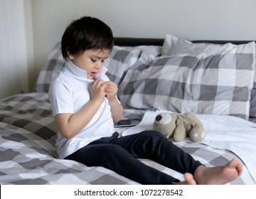
[[[28,92],[24,1],[0,0],[0,98]]]

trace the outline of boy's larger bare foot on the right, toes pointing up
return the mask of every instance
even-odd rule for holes
[[[234,158],[225,166],[199,166],[194,173],[194,178],[201,185],[222,185],[235,180],[241,174],[242,166]]]

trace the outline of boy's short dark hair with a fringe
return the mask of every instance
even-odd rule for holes
[[[97,18],[82,16],[65,29],[61,39],[63,58],[68,53],[75,55],[89,49],[110,49],[114,45],[112,30]]]

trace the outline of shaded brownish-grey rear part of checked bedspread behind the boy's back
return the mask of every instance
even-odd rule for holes
[[[32,92],[1,99],[0,122],[31,131],[55,146],[57,129],[46,92]]]

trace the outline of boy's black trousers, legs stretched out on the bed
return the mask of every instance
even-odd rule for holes
[[[151,159],[180,173],[193,174],[202,165],[158,131],[118,136],[115,132],[111,137],[92,141],[66,159],[84,163],[86,166],[102,166],[137,183],[155,185],[171,184],[177,179],[146,166],[137,158]]]

